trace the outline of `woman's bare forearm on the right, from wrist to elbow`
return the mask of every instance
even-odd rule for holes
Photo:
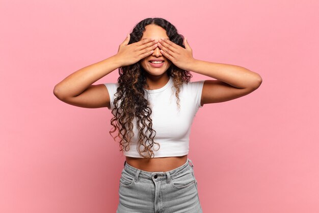
[[[258,73],[254,73],[242,66],[212,63],[195,59],[190,63],[188,70],[223,81],[236,88],[256,88],[262,79]]]

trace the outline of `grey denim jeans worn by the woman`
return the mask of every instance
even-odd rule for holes
[[[202,213],[193,167],[188,158],[174,170],[146,172],[125,161],[116,213]]]

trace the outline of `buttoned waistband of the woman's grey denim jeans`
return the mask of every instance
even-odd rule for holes
[[[190,165],[190,163],[192,165]],[[137,182],[138,181],[138,178],[143,178],[143,179],[149,179],[149,180],[168,180],[170,181],[170,179],[172,177],[175,177],[181,173],[183,173],[185,170],[189,170],[190,168],[193,168],[194,167],[194,164],[192,162],[191,159],[187,158],[187,161],[181,165],[180,167],[176,168],[176,169],[173,169],[173,170],[170,170],[170,171],[167,171],[167,172],[147,172],[147,171],[144,171],[144,170],[140,170],[140,169],[137,169],[135,167],[132,167],[131,165],[129,165],[128,163],[126,163],[126,160],[124,162],[124,170],[132,175],[132,176],[135,176],[135,181]]]

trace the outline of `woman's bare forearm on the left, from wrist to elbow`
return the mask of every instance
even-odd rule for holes
[[[117,55],[85,66],[58,83],[54,88],[54,94],[61,99],[75,97],[86,90],[91,84],[120,66],[121,63]]]

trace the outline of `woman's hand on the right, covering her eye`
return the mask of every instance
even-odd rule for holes
[[[158,42],[161,53],[179,68],[188,70],[189,65],[195,61],[193,51],[186,38],[184,38],[185,49],[166,38],[159,39]]]

